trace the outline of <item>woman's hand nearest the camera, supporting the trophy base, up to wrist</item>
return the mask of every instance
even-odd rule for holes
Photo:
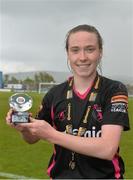
[[[39,139],[50,141],[53,133],[56,131],[49,123],[44,120],[37,120],[30,117],[29,123],[20,123],[15,126],[19,131],[28,131]]]

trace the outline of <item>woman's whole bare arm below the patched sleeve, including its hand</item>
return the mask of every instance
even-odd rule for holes
[[[42,120],[32,119],[32,123],[23,123],[17,126],[28,128],[30,133],[39,139],[58,144],[80,154],[107,160],[111,160],[117,152],[123,130],[120,125],[103,125],[101,137],[88,138],[59,132]]]

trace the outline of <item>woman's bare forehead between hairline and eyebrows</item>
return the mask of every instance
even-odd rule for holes
[[[93,32],[79,31],[71,33],[69,36],[69,46],[78,46],[78,45],[97,45],[98,39],[97,35]]]

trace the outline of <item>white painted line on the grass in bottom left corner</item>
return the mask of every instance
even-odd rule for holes
[[[17,174],[11,174],[11,173],[5,173],[5,172],[0,172],[0,176],[6,177],[6,178],[12,178],[12,179],[36,179],[33,177],[20,176]]]

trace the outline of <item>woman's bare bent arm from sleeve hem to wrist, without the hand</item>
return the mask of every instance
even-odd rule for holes
[[[122,129],[119,125],[104,125],[102,136],[97,138],[72,136],[56,131],[49,141],[80,154],[112,160],[119,146]]]

